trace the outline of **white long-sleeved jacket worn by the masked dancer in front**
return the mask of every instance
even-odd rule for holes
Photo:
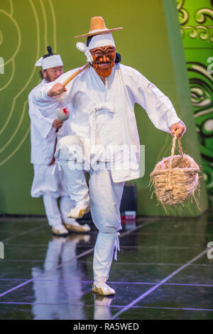
[[[57,97],[48,97],[48,90],[56,82],[64,82],[76,70],[66,72],[54,82],[35,90],[33,101],[41,114],[48,114],[49,110],[60,105]],[[88,148],[97,147],[92,163],[110,161],[114,182],[140,177],[135,103],[146,110],[157,129],[170,133],[172,124],[182,122],[163,92],[140,72],[121,64],[114,66],[105,85],[92,67],[84,70],[68,83],[66,95],[71,104],[71,134],[82,138]],[[115,166],[117,161],[121,165],[124,163],[121,153],[124,146],[136,149],[131,156],[131,166],[119,170]],[[109,147],[114,147],[114,154],[106,159],[106,149]],[[66,160],[67,156],[61,158]]]

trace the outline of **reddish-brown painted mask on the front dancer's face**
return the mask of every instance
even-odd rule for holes
[[[92,66],[100,77],[109,77],[114,67],[116,48],[111,45],[89,50],[93,57]]]

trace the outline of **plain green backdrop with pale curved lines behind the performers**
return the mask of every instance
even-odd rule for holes
[[[70,0],[0,0],[0,210],[8,214],[43,214],[41,199],[30,196],[33,166],[30,164],[28,93],[40,81],[35,61],[52,45],[60,53],[65,71],[85,63],[73,36],[89,31],[92,16],[103,16],[114,33],[122,63],[136,68],[172,100],[187,125],[182,137],[185,153],[201,165],[195,119],[190,104],[182,39],[175,0],[109,1],[89,4]],[[141,144],[146,146],[145,176],[136,181],[138,215],[165,215],[151,200],[149,175],[163,156],[170,155],[172,136],[155,129],[146,112],[136,106]],[[195,203],[175,207],[174,215],[200,215],[207,209],[207,193],[200,179],[200,209]]]

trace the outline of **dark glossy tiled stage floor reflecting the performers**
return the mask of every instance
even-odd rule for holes
[[[97,229],[89,225],[88,235],[58,238],[43,219],[1,218],[1,320],[213,319],[213,212],[123,225],[113,298],[91,291]]]

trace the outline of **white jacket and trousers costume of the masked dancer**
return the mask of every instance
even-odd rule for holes
[[[42,114],[58,107],[60,103],[57,97],[48,97],[48,90],[56,82],[63,83],[76,70],[35,90],[33,101]],[[170,126],[181,121],[170,99],[163,92],[137,70],[120,64],[114,66],[105,85],[92,67],[84,70],[67,85],[67,99],[72,104],[72,136],[61,139],[55,157],[58,158],[62,171],[66,171],[69,189],[72,189],[71,185],[77,189],[75,193],[70,190],[70,197],[77,195],[79,202],[82,189],[88,192],[88,188],[82,178],[82,171],[70,169],[70,158],[71,162],[77,162],[77,166],[80,163],[78,152],[70,147],[70,143],[80,141],[86,158],[92,158],[89,199],[92,219],[99,230],[94,247],[94,282],[105,282],[109,277],[114,247],[119,249],[117,231],[121,228],[119,206],[124,181],[140,177],[140,143],[134,104],[140,104],[154,126],[162,131],[170,133]],[[114,147],[114,154],[106,158],[109,146]],[[131,156],[131,166],[126,169],[114,168],[117,161],[124,162],[121,151],[124,146],[136,147],[135,154]],[[95,163],[99,165],[100,161],[101,165],[108,165],[109,162],[111,171],[108,171],[109,168],[97,171],[94,166]],[[76,199],[75,201],[77,202]]]

